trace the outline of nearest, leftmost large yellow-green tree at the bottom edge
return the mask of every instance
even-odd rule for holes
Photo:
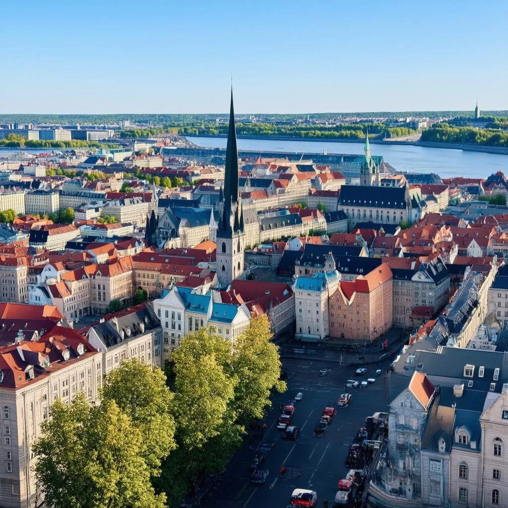
[[[143,436],[113,400],[90,406],[80,392],[57,400],[33,446],[35,473],[54,508],[164,508],[143,459]]]

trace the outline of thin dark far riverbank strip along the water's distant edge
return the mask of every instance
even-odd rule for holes
[[[186,138],[227,138],[226,134],[199,136],[185,135]],[[336,139],[336,138],[297,138],[295,136],[242,136],[238,135],[238,139],[267,140],[267,141],[311,141],[311,142],[330,142],[330,143],[357,143],[364,144],[364,139]],[[482,145],[466,145],[459,143],[436,143],[431,141],[397,141],[384,139],[369,139],[370,144],[377,145],[405,145],[405,146],[422,146],[425,148],[450,148],[453,150],[464,150],[470,152],[497,153],[499,155],[508,155],[508,148],[502,146],[482,146]]]

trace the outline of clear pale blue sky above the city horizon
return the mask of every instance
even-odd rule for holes
[[[508,109],[508,2],[4,0],[1,113]]]

